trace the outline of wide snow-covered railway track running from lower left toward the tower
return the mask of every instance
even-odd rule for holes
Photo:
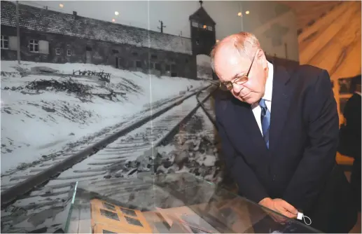
[[[177,133],[182,135],[182,132],[195,128],[197,121],[200,122],[200,115],[204,114],[198,107],[209,98],[212,89],[215,88],[211,86],[198,93],[196,98],[188,97],[178,102],[152,120],[139,124],[138,128],[110,134],[109,139],[98,142],[98,146],[81,147],[83,155],[79,152],[73,156],[60,156],[60,162],[55,165],[54,161],[43,163],[44,167],[48,166],[46,170],[33,168],[30,171],[34,174],[16,178],[20,183],[14,182],[1,193],[1,231],[25,232],[48,228],[48,233],[50,229],[54,231],[62,226],[76,181],[101,181],[117,177],[123,177],[124,181],[127,177],[137,177],[138,172],[157,171],[160,164],[155,163],[155,156],[159,155],[155,147],[167,145]],[[209,131],[212,131],[211,128]],[[184,137],[187,138],[186,133]],[[51,173],[45,173],[47,171]],[[32,180],[34,177],[38,179]],[[33,184],[27,184],[27,181]],[[32,186],[34,184],[36,186]],[[6,198],[5,202],[3,197]]]

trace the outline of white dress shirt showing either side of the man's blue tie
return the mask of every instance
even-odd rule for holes
[[[270,111],[270,113],[272,113],[272,92],[273,92],[273,75],[274,75],[273,64],[267,62],[267,68],[269,69],[269,71],[267,73],[267,82],[265,83],[265,92],[262,98],[265,99],[265,104],[267,105],[267,109]],[[261,128],[261,120],[260,120],[261,107],[259,103],[257,102],[252,104],[251,109],[253,110],[256,123],[258,123],[261,135],[263,135],[263,130]]]

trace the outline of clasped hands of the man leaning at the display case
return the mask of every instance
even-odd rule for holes
[[[267,207],[268,209],[272,209],[274,212],[277,212],[279,214],[283,214],[284,216],[287,216],[288,218],[295,219],[298,214],[298,210],[293,207],[293,205],[289,204],[285,200],[279,199],[279,198],[264,198],[263,200],[260,200],[259,205],[262,205],[263,207]],[[281,217],[272,216],[272,218],[276,221],[285,221],[285,219],[281,219]]]

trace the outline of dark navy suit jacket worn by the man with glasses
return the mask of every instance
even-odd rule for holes
[[[239,193],[254,202],[281,198],[305,214],[319,214],[320,195],[335,167],[339,131],[328,72],[309,65],[286,69],[274,64],[269,149],[249,104],[217,95],[215,110],[223,157]],[[334,174],[347,186],[343,173]],[[334,193],[335,186],[342,189],[334,184],[328,193]],[[328,198],[328,205],[335,199]],[[318,223],[317,227],[327,230]]]

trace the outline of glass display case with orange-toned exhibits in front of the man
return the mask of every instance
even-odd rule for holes
[[[186,172],[74,187],[66,233],[320,233]]]

